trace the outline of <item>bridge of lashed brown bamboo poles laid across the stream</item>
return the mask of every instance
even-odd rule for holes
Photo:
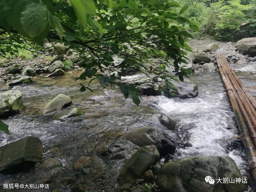
[[[217,63],[236,116],[252,177],[256,180],[256,100],[231,69],[224,55],[217,55]]]

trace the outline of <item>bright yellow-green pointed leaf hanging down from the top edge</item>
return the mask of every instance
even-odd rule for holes
[[[86,28],[86,9],[80,0],[69,0],[81,25]]]

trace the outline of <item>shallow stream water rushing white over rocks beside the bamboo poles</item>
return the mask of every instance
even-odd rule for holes
[[[246,86],[256,87],[255,66],[233,68]],[[43,158],[59,159],[65,167],[60,174],[68,176],[73,174],[71,168],[76,159],[82,155],[95,154],[97,147],[103,144],[124,144],[125,156],[129,158],[137,146],[123,140],[122,135],[142,126],[161,126],[154,114],[162,112],[180,118],[175,132],[186,137],[183,139],[191,144],[189,147],[178,148],[173,159],[191,155],[227,155],[234,159],[239,168],[247,166],[242,143],[234,147],[234,141],[236,143],[239,140],[236,139],[239,132],[218,71],[198,72],[190,77],[198,85],[199,95],[196,98],[168,99],[158,96],[151,102],[152,97],[143,97],[139,107],[130,99],[125,100],[118,89],[102,90],[97,83],[90,86],[94,92],[81,93],[79,82],[74,81],[76,77],[71,72],[59,78],[37,77],[34,83],[14,87],[22,91],[26,107],[19,114],[4,119],[11,134],[0,135],[0,146],[25,136],[39,137],[44,146]],[[1,92],[7,89],[2,84]],[[72,105],[66,110],[42,115],[41,108],[60,93],[69,95],[73,100]],[[62,118],[71,107],[81,108],[84,115]],[[116,185],[116,175],[125,160],[110,161],[108,157],[102,160],[108,165],[110,183]],[[242,170],[242,174],[248,173]],[[27,173],[0,174],[0,185],[15,182],[41,183],[41,177],[36,166],[35,170]]]

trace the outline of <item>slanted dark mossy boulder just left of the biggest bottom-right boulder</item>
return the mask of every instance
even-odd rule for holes
[[[136,179],[144,174],[151,165],[159,161],[159,152],[155,145],[144,146],[123,165],[117,181],[120,185],[125,183],[135,184]]]

